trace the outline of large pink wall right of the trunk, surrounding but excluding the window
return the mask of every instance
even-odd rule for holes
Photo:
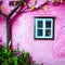
[[[54,61],[65,61],[65,4],[49,4],[48,11],[38,10],[20,14],[12,25],[13,48],[30,52],[32,58],[38,62],[54,63]],[[54,40],[34,39],[34,17],[54,16]],[[64,63],[65,64],[65,63]],[[56,64],[54,64],[56,65]]]

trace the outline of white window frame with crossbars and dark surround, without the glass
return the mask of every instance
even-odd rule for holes
[[[38,21],[43,22],[43,27],[38,28],[37,23]],[[51,21],[51,28],[46,28],[46,21]],[[43,29],[43,36],[37,36],[37,29]],[[51,36],[46,36],[46,29],[51,29]],[[35,17],[35,39],[54,39],[54,17]]]

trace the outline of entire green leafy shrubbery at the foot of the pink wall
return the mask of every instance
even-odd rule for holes
[[[0,48],[0,65],[34,65],[28,52]]]

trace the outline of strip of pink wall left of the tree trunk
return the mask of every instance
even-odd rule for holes
[[[5,17],[2,15],[0,15],[0,43],[3,46],[6,43]]]

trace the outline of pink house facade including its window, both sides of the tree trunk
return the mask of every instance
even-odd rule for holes
[[[0,20],[0,38],[4,44],[5,17],[1,16]],[[65,2],[50,2],[42,9],[16,14],[11,23],[14,50],[18,47],[20,50],[28,51],[37,63],[65,64]]]

